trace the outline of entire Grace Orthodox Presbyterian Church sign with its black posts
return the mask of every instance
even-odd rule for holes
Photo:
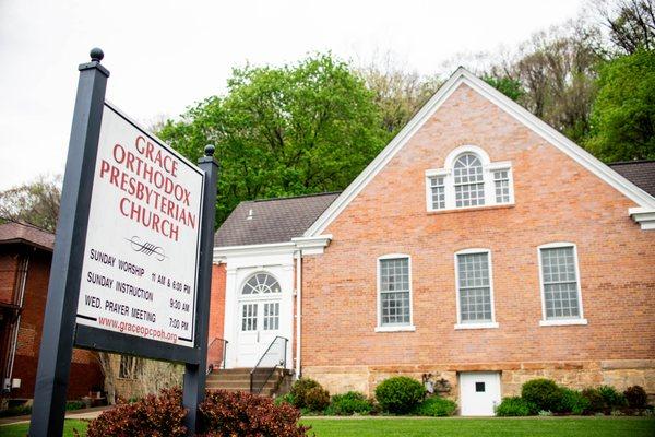
[[[187,435],[204,399],[218,166],[192,164],[105,101],[79,67],[29,436],[63,433],[73,347],[184,364]]]

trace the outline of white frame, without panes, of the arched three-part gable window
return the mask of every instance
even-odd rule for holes
[[[455,184],[453,176],[453,166],[457,158],[465,154],[475,154],[483,163],[483,181],[485,184],[485,204],[472,206],[456,206],[455,201]],[[493,172],[507,170],[510,201],[504,203],[496,202],[496,184],[493,180]],[[445,208],[436,209],[432,205],[432,189],[430,180],[433,177],[443,177]],[[427,169],[425,172],[425,189],[426,189],[426,209],[427,212],[442,212],[453,210],[477,210],[483,208],[493,206],[511,206],[514,204],[514,177],[512,174],[511,161],[491,162],[487,152],[476,145],[462,145],[453,150],[445,158],[443,168]]]

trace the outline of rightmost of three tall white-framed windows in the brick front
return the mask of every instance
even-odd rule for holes
[[[539,247],[541,324],[585,324],[575,246],[557,243]]]

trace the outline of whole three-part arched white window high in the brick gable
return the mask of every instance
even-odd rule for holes
[[[512,164],[492,163],[480,147],[452,151],[445,167],[426,170],[428,211],[493,206],[514,203]]]

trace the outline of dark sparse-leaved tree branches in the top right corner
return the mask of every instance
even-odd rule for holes
[[[617,48],[628,55],[655,49],[653,0],[619,0],[612,4],[596,0],[595,7]]]

